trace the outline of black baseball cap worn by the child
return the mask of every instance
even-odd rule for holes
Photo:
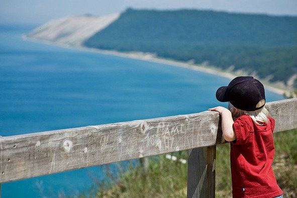
[[[253,76],[238,76],[231,80],[228,86],[217,90],[217,100],[230,102],[234,107],[243,111],[256,111],[264,107],[256,107],[261,100],[265,100],[263,84]]]

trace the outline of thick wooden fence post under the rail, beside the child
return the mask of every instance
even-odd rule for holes
[[[215,197],[216,146],[188,150],[187,197]]]

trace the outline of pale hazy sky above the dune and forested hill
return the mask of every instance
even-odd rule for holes
[[[122,13],[127,8],[297,16],[297,0],[0,0],[0,23],[43,24],[71,15]]]

